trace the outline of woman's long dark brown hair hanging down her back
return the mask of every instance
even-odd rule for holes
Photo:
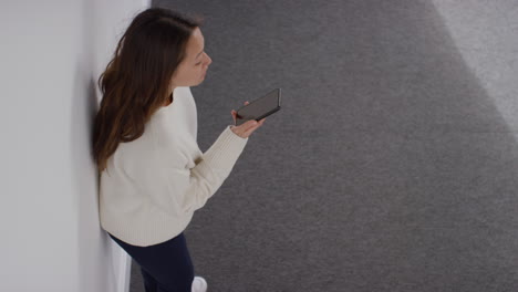
[[[151,116],[166,104],[172,76],[201,22],[199,15],[165,8],[147,9],[133,19],[97,80],[103,98],[94,121],[93,157],[100,173],[118,144],[141,137]]]

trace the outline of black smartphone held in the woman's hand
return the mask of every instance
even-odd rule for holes
[[[265,96],[241,106],[236,113],[236,126],[239,126],[250,119],[259,122],[278,112],[280,109],[280,88],[274,88]]]

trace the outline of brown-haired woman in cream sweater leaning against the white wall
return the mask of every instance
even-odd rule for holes
[[[141,12],[99,79],[93,156],[101,226],[141,265],[147,292],[206,291],[183,231],[265,123],[228,125],[200,152],[189,86],[204,81],[213,62],[200,24],[167,9]]]

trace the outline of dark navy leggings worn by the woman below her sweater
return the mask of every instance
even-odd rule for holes
[[[110,237],[141,265],[146,292],[190,292],[194,267],[183,232],[148,247],[132,246]]]

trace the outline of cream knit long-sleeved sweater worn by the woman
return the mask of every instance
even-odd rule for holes
[[[190,87],[176,87],[139,138],[121,143],[101,173],[101,227],[138,247],[179,234],[229,176],[248,142],[228,125],[201,153]]]

